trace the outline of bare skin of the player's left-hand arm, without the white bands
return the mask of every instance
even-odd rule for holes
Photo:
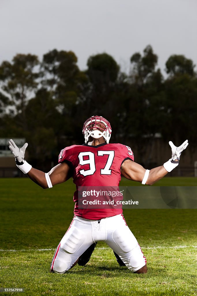
[[[67,163],[59,163],[48,173],[51,179],[51,184],[56,185],[67,181],[71,177],[71,168]],[[43,189],[48,188],[45,173],[41,170],[31,168],[27,176]]]

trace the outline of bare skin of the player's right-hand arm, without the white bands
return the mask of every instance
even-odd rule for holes
[[[139,165],[138,163],[135,163],[132,160],[125,160],[121,165],[121,174],[129,180],[142,182],[145,172],[146,169],[143,168],[143,166]],[[154,184],[155,182],[163,178],[167,173],[168,172],[167,170],[165,170],[163,165],[157,168],[153,168],[149,172],[146,184]]]

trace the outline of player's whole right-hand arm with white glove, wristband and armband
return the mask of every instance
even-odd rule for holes
[[[183,142],[179,147],[176,147],[172,141],[169,142],[169,145],[172,149],[172,157],[162,166],[146,170],[138,163],[125,160],[121,165],[121,174],[129,180],[142,182],[142,184],[154,184],[178,166],[181,152],[188,146],[188,140]]]

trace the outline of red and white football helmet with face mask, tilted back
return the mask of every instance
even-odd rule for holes
[[[97,126],[97,124],[99,124],[100,126]],[[99,129],[94,130],[94,128]],[[86,144],[88,143],[89,136],[91,136],[94,139],[99,139],[103,136],[106,143],[108,144],[111,137],[111,131],[112,130],[109,121],[103,118],[102,116],[92,116],[88,118],[84,122],[82,130]]]

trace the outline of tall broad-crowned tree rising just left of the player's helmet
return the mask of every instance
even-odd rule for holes
[[[78,122],[76,104],[82,98],[87,75],[79,70],[74,52],[56,49],[44,54],[41,70],[42,85],[51,91],[62,121],[62,141],[65,141],[63,135],[67,135],[67,140],[71,141],[74,137],[73,129]]]

